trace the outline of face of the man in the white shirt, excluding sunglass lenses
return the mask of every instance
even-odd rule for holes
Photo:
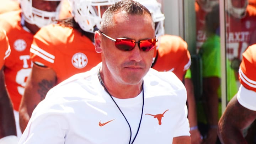
[[[137,16],[117,13],[113,23],[105,32],[116,38],[129,38],[139,41],[155,37],[152,20],[149,15]],[[108,77],[122,84],[135,85],[142,82],[152,64],[154,49],[144,52],[138,47],[130,51],[122,51],[115,47],[114,42],[102,36],[102,66],[104,77]],[[104,71],[104,70],[103,70]]]

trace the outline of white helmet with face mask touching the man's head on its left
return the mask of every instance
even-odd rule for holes
[[[101,17],[108,6],[118,0],[69,0],[72,15],[82,30],[94,33],[100,28]]]

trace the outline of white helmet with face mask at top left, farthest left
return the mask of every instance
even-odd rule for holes
[[[59,17],[60,5],[56,7],[55,11],[43,11],[39,10],[32,5],[32,0],[19,0],[22,9],[22,15],[25,20],[38,27],[49,25],[50,23],[55,23]],[[61,0],[42,0],[42,1],[61,1]]]

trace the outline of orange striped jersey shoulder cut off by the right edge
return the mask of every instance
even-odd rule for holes
[[[248,47],[242,56],[239,69],[240,83],[246,89],[256,92],[256,44]]]

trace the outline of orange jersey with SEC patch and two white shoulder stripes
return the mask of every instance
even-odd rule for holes
[[[58,24],[42,27],[35,34],[30,56],[33,62],[52,68],[58,83],[101,62],[101,54],[96,53],[89,38]]]

